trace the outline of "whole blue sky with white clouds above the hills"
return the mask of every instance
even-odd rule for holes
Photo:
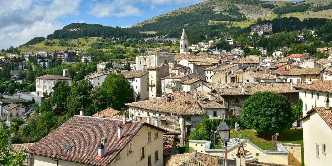
[[[129,27],[206,0],[0,0],[0,49],[46,37],[70,23]]]

